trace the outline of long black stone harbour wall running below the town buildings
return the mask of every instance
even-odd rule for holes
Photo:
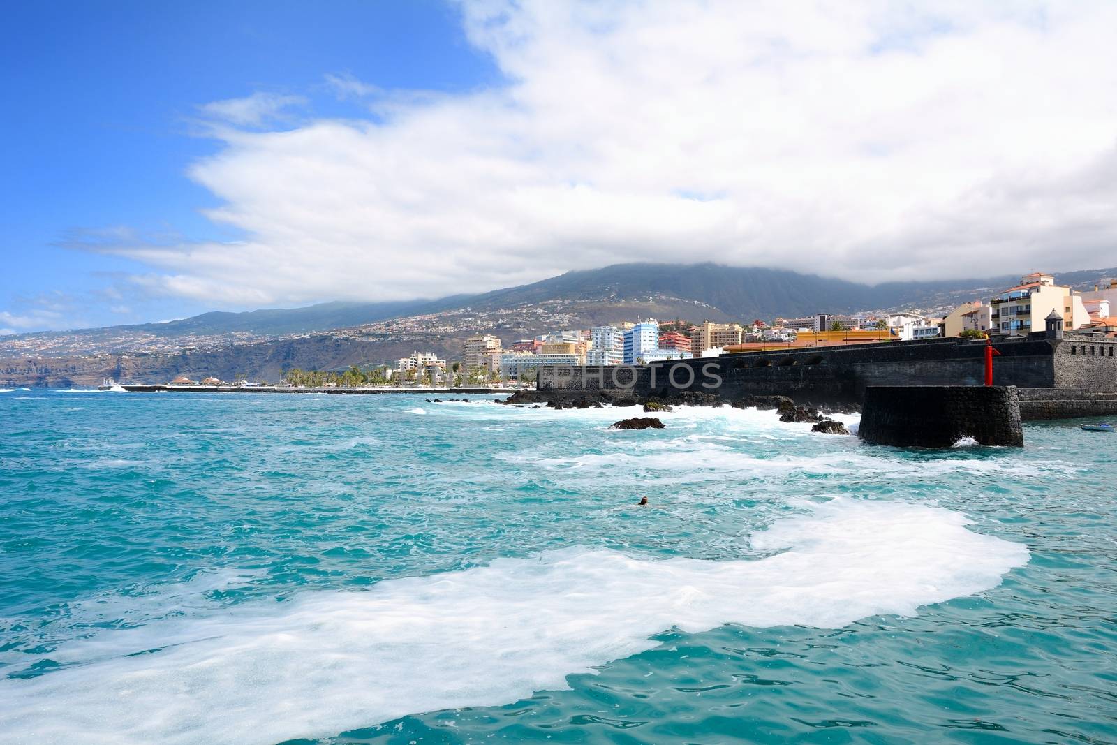
[[[1061,333],[1061,332],[1060,332]],[[1023,419],[1117,413],[1117,340],[1043,333],[997,341],[994,385],[1020,389]],[[782,395],[819,409],[857,409],[875,385],[984,382],[985,343],[962,338],[724,354],[648,365],[540,367],[536,401],[572,405],[659,400],[733,403]],[[1046,397],[1043,391],[1066,391]],[[1033,393],[1034,392],[1034,393]],[[687,397],[695,401],[686,401]]]

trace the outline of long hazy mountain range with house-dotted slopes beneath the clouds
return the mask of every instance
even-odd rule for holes
[[[1089,289],[1117,268],[1067,271],[1060,284]],[[416,350],[455,359],[461,342],[495,333],[506,342],[560,328],[636,321],[772,321],[813,313],[916,311],[941,315],[987,298],[1019,275],[865,285],[782,269],[717,264],[620,264],[569,271],[488,293],[386,303],[334,302],[299,308],[213,312],[166,323],[0,337],[0,384],[86,383],[99,376],[160,382],[171,373],[247,374],[376,364]],[[128,362],[121,367],[120,359]],[[44,372],[47,371],[47,372]],[[52,372],[51,372],[52,371]],[[102,374],[104,373],[104,374]]]

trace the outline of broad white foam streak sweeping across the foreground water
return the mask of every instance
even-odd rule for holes
[[[838,628],[997,585],[1028,550],[957,513],[839,498],[752,535],[752,561],[571,547],[369,592],[160,620],[0,681],[0,742],[275,743],[493,706],[723,623]],[[141,653],[143,652],[143,653]]]

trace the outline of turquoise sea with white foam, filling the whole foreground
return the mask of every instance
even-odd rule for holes
[[[1117,436],[472,398],[0,392],[0,743],[1117,742]]]

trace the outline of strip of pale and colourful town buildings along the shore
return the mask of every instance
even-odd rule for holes
[[[819,313],[770,322],[693,324],[676,319],[637,319],[588,329],[556,329],[532,338],[503,340],[495,334],[468,337],[460,359],[413,351],[390,364],[351,366],[344,371],[286,371],[279,385],[296,388],[489,386],[522,388],[534,383],[546,365],[638,365],[668,360],[714,357],[726,353],[803,347],[885,344],[942,337],[1011,337],[1043,331],[1057,314],[1067,331],[1117,336],[1117,279],[1079,292],[1056,277],[1033,273],[989,298],[963,303],[943,317],[914,312],[840,315]],[[226,385],[217,378],[187,375],[172,385]],[[247,381],[235,384],[249,385]]]

